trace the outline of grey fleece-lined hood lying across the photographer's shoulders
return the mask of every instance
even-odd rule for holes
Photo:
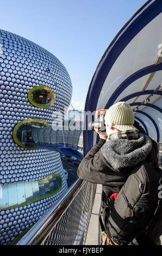
[[[152,141],[142,133],[138,136],[136,139],[110,139],[102,146],[102,155],[114,169],[136,166],[146,159],[151,151]]]

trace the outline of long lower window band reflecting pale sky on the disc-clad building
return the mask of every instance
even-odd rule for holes
[[[51,197],[58,193],[63,185],[60,174],[52,174],[45,179],[32,182],[15,182],[2,186],[0,209],[17,208]]]

